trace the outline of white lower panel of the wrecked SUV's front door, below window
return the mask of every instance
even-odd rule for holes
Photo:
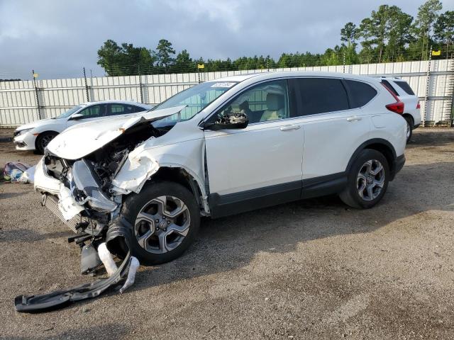
[[[248,125],[243,130],[205,131],[211,193],[226,195],[301,181],[303,129],[299,118]]]

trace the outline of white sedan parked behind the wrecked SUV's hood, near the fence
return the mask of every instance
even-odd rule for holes
[[[94,101],[83,103],[55,118],[42,119],[19,126],[14,131],[13,142],[18,150],[38,150],[43,153],[49,142],[72,125],[111,116],[129,115],[148,111],[151,106],[133,101]]]

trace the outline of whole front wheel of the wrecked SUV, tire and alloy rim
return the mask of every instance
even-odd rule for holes
[[[149,183],[126,198],[121,213],[133,226],[131,253],[143,264],[176,259],[199,231],[199,206],[194,195],[178,183]]]

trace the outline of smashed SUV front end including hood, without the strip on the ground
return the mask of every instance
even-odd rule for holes
[[[84,256],[94,254],[109,227],[118,219],[123,196],[138,193],[159,164],[142,157],[141,146],[165,135],[170,128],[155,128],[153,121],[175,114],[184,106],[143,113],[132,118],[80,124],[57,135],[36,166],[35,190],[43,193],[42,204],[76,233],[68,238],[82,248],[82,273],[94,271],[96,263]],[[118,245],[115,254],[126,255]],[[93,263],[92,266],[87,263]]]

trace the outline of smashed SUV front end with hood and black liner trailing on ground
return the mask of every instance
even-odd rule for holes
[[[94,273],[104,264],[109,278],[96,280],[44,295],[20,295],[15,299],[18,312],[55,309],[72,301],[96,297],[128,278],[120,293],[134,281],[138,259],[131,256],[132,226],[120,217],[123,196],[139,192],[159,165],[150,157],[140,157],[144,142],[160,137],[170,128],[157,129],[151,122],[184,106],[128,120],[111,120],[101,131],[87,125],[87,135],[76,129],[58,135],[36,166],[35,190],[43,194],[43,205],[64,221],[76,234],[68,242],[81,246],[81,272]],[[63,135],[63,136],[62,136]],[[68,136],[72,137],[70,143]],[[80,149],[74,136],[81,136]],[[112,254],[123,259],[117,269]]]

